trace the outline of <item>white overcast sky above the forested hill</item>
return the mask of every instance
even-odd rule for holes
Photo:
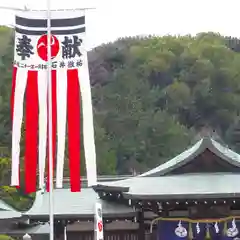
[[[240,0],[51,0],[52,8],[96,7],[86,13],[89,47],[145,34],[220,32],[240,37]],[[39,5],[36,5],[39,4]],[[1,6],[45,9],[46,0],[0,0]],[[0,25],[14,13],[0,10]]]

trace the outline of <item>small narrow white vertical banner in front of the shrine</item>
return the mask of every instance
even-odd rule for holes
[[[95,240],[103,240],[102,204],[97,200],[94,211]]]

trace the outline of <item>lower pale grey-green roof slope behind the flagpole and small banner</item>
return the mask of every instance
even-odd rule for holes
[[[54,215],[56,218],[92,218],[97,194],[92,188],[83,188],[81,192],[70,192],[70,189],[54,190]],[[134,216],[133,208],[100,200],[103,216]],[[49,215],[49,193],[37,193],[32,208],[25,212],[30,218],[47,218]]]

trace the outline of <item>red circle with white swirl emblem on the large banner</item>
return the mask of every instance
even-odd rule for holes
[[[51,35],[51,57],[55,58],[60,50],[60,44],[56,36]],[[47,35],[43,35],[38,39],[37,43],[38,56],[43,60],[47,61]]]

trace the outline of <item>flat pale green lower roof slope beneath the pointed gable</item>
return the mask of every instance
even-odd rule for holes
[[[136,178],[127,198],[138,199],[198,199],[240,197],[240,174],[183,174]],[[149,187],[151,186],[151,187]]]

